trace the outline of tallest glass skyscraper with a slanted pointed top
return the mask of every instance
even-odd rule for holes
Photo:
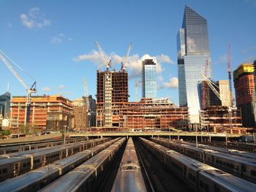
[[[182,28],[177,35],[178,99],[181,107],[189,107],[190,123],[199,123],[200,86],[208,60],[211,78],[211,53],[208,43],[207,20],[186,6]]]

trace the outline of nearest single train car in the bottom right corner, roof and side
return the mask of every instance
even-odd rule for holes
[[[255,191],[256,185],[219,169],[202,170],[198,174],[198,191]]]

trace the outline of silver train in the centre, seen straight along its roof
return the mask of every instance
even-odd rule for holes
[[[132,137],[127,142],[111,192],[147,191]]]

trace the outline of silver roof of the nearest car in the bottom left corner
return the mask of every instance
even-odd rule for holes
[[[21,174],[18,177],[13,177],[11,179],[5,180],[0,183],[1,191],[19,191],[24,185],[30,185],[42,177],[48,177],[48,175],[59,172],[58,169],[50,167],[42,167],[35,169],[26,174]]]

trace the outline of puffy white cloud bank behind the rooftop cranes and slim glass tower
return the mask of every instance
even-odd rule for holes
[[[107,61],[112,61],[112,64],[121,64],[121,61],[123,60],[124,56],[117,55],[116,53],[110,53],[110,55],[106,55]],[[151,55],[143,55],[140,57],[138,54],[130,55],[127,59],[127,70],[131,72],[129,75],[130,78],[133,77],[139,77],[142,70],[142,61],[145,59],[151,58],[153,59],[154,63],[157,64],[157,74],[160,74],[162,72],[162,63],[172,64],[173,61],[169,58],[169,56],[161,54],[156,56]],[[103,64],[102,56],[97,50],[92,50],[91,53],[78,55],[76,58],[73,58],[73,61],[83,61],[83,60],[89,60],[97,65],[98,69],[102,69],[105,67],[105,64]]]

